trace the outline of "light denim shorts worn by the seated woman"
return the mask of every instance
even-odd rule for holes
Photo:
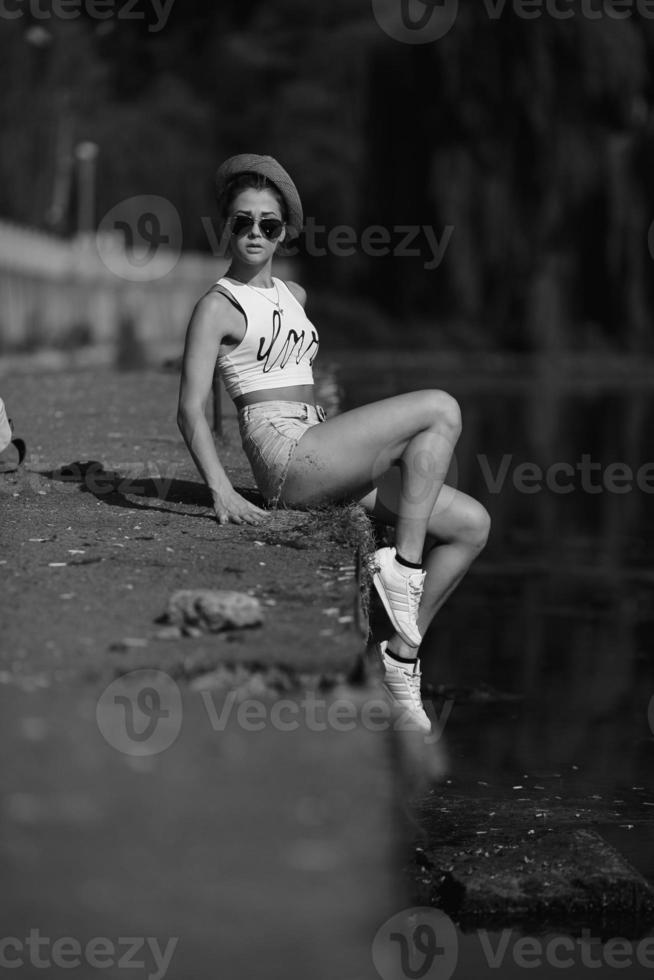
[[[306,402],[264,401],[239,409],[243,449],[266,503],[277,506],[300,437],[324,421],[321,406]]]

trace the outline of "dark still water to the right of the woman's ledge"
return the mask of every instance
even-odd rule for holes
[[[334,361],[343,408],[419,388],[443,388],[462,408],[448,482],[484,504],[493,528],[423,647],[425,679],[459,692],[444,730],[452,784],[474,793],[483,783],[479,792],[500,798],[537,787],[535,798],[609,809],[618,800],[596,829],[654,882],[654,372],[429,355]],[[528,968],[513,958],[516,934],[493,968],[477,934],[458,938],[456,976],[654,967],[635,949],[618,968],[605,947],[579,946],[574,967],[544,955]],[[494,948],[500,939],[490,937]]]

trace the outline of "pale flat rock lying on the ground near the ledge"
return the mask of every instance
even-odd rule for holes
[[[218,633],[221,630],[258,626],[262,618],[259,600],[243,592],[180,589],[168,600],[164,622],[180,627],[189,635],[189,629]]]

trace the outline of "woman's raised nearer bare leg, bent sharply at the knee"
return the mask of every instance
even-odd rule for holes
[[[461,432],[454,399],[443,391],[416,391],[344,412],[302,436],[281,499],[307,506],[369,494],[400,464],[396,546],[422,560],[429,520]]]

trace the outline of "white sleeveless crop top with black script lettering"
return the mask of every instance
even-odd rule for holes
[[[236,398],[259,388],[313,384],[318,332],[286,283],[273,278],[272,289],[264,289],[223,277],[215,285],[223,286],[245,315],[243,339],[218,355],[228,394]]]

